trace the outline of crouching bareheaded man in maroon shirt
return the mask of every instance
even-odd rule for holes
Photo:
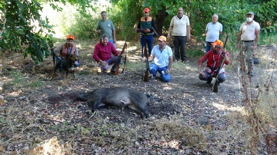
[[[111,56],[111,53],[113,56]],[[112,43],[109,42],[109,37],[103,34],[100,43],[95,45],[93,52],[93,59],[97,61],[101,68],[101,72],[106,72],[109,69],[109,65],[113,64],[111,69],[111,74],[114,75],[116,66],[120,58],[120,53],[118,53]]]

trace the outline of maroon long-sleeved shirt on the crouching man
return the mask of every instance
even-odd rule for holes
[[[114,56],[119,54],[112,43],[108,42],[107,46],[104,46],[102,43],[98,43],[94,47],[93,58],[97,62],[99,62],[100,59],[106,61],[111,58],[111,53]]]

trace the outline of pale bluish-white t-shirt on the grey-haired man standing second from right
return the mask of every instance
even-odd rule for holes
[[[222,24],[217,22],[214,24],[213,22],[210,22],[206,25],[206,42],[215,42],[216,40],[219,40],[219,33],[222,32]]]

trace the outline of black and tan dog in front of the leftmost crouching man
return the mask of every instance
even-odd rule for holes
[[[74,76],[74,80],[77,80],[75,75],[75,68],[74,68],[74,62],[77,61],[77,57],[75,55],[71,55],[68,59],[62,59],[58,61],[54,67],[54,72],[52,75],[52,80],[55,78],[56,71],[59,67],[62,68],[64,72],[66,72],[65,79],[68,80],[68,73],[71,72]]]

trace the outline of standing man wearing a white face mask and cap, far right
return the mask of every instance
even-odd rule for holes
[[[246,62],[248,64],[248,75],[254,76],[253,74],[253,49],[257,48],[257,43],[260,34],[260,25],[253,20],[254,13],[249,12],[246,15],[246,22],[240,26],[240,31],[237,38],[236,48],[239,48],[239,41],[245,45]],[[250,67],[251,66],[251,67]],[[244,66],[241,66],[244,68]],[[251,69],[250,69],[251,68]]]

